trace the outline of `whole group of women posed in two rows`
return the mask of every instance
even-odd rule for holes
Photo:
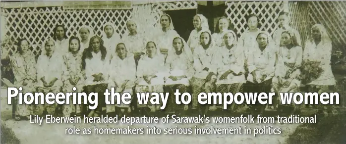
[[[75,92],[99,93],[99,106],[95,110],[84,105],[19,105],[16,119],[30,114],[62,113],[64,116],[86,114],[127,114],[159,110],[160,105],[137,104],[134,92],[169,92],[165,112],[179,113],[197,109],[207,114],[209,109],[222,105],[201,105],[197,101],[204,92],[297,92],[301,86],[300,70],[303,61],[319,61],[323,73],[318,79],[304,84],[322,90],[335,85],[331,72],[331,39],[326,29],[316,24],[311,37],[301,47],[299,33],[289,27],[288,13],[281,12],[280,27],[273,38],[257,28],[259,18],[247,17],[248,30],[238,39],[230,29],[226,17],[218,20],[211,34],[207,19],[197,14],[193,18],[194,30],[187,42],[173,28],[168,14],[160,18],[161,27],[151,36],[138,31],[140,23],[129,19],[128,34],[122,38],[112,23],[104,25],[103,36],[94,35],[93,29],[83,26],[77,37],[66,37],[63,25],[54,29],[54,39],[44,43],[42,55],[35,63],[35,56],[28,51],[29,42],[18,41],[18,53],[11,58],[15,85],[23,91],[43,93]],[[130,106],[106,105],[103,93],[115,87],[116,92],[132,94]],[[192,94],[190,105],[175,104],[173,93]],[[276,100],[274,100],[276,101]],[[263,105],[247,105],[252,112]],[[276,105],[274,105],[274,108]],[[231,109],[231,108],[230,108]]]

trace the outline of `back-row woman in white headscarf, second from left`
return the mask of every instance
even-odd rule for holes
[[[78,31],[78,38],[80,40],[80,52],[83,52],[85,48],[89,48],[89,40],[94,36],[94,30],[90,26],[82,26]]]

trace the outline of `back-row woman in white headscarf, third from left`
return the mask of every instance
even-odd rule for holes
[[[116,33],[116,27],[113,23],[108,22],[103,26],[102,40],[108,53],[114,54],[116,44],[120,41],[120,36]]]

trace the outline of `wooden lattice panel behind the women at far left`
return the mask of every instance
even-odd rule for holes
[[[33,53],[38,54],[42,43],[53,38],[56,24],[64,24],[67,36],[76,35],[82,25],[91,26],[96,35],[101,36],[103,25],[115,23],[116,32],[122,36],[126,31],[125,22],[131,17],[131,10],[64,10],[58,7],[21,7],[4,9],[6,36],[12,41],[26,38],[33,46]],[[37,47],[36,47],[37,46]],[[1,49],[5,50],[5,49]],[[16,48],[10,48],[12,53]],[[5,58],[6,55],[1,55]]]

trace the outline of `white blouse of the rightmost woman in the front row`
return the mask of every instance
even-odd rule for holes
[[[307,41],[303,52],[303,59],[310,61],[321,61],[320,67],[324,70],[319,78],[308,85],[330,86],[336,81],[330,64],[332,56],[332,44],[320,42],[317,46],[315,42]]]

